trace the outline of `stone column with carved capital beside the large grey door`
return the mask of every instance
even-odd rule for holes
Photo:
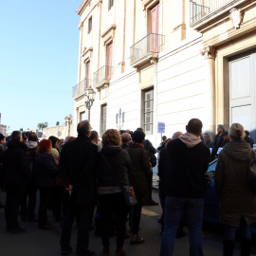
[[[205,81],[205,114],[203,130],[210,132],[210,139],[213,141],[215,131],[215,48],[206,46],[201,50],[201,55],[206,60],[206,81]]]

